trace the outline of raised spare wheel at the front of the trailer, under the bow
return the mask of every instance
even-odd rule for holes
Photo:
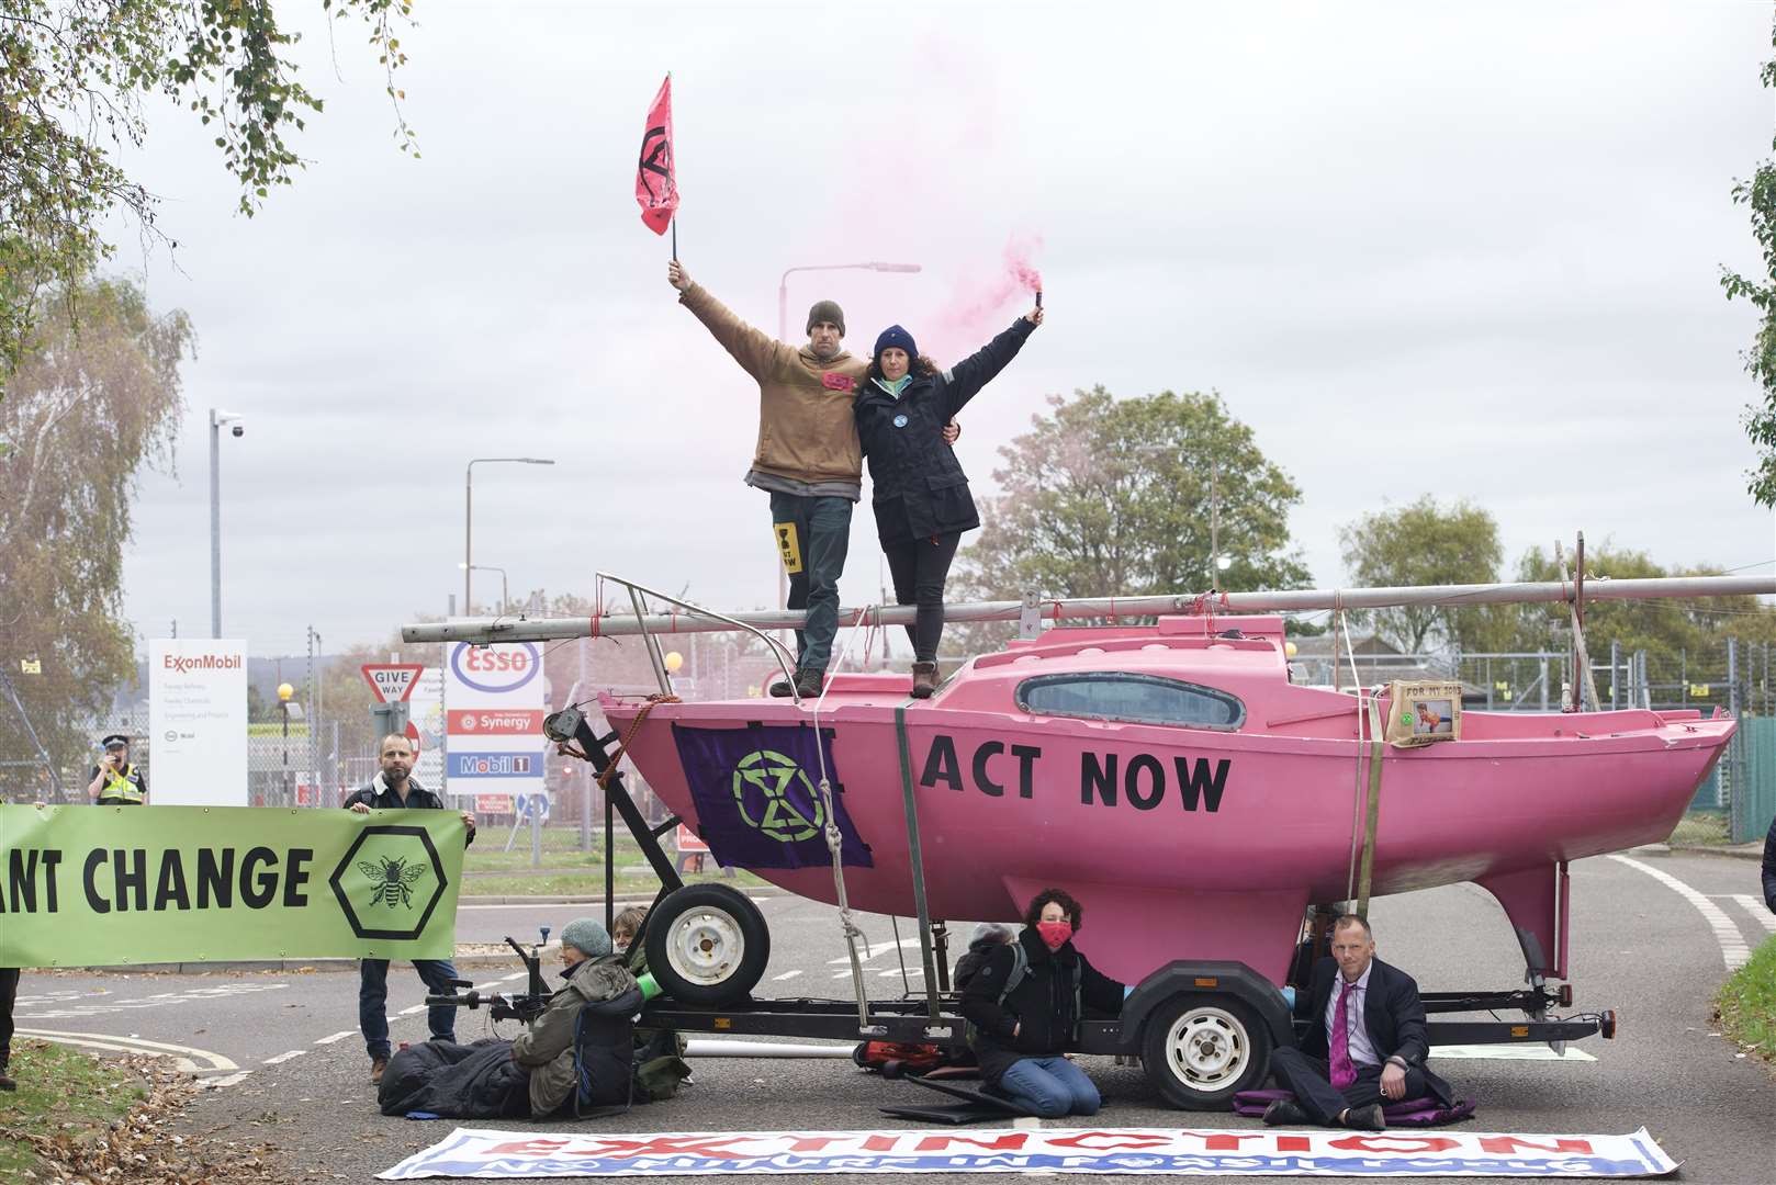
[[[650,913],[648,970],[680,1004],[721,1007],[746,998],[771,959],[771,931],[746,894],[684,885]]]

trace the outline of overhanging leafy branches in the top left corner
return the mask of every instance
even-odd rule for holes
[[[394,21],[412,0],[321,7],[368,25],[412,151],[394,85],[407,62]],[[39,293],[80,295],[110,256],[103,222],[114,210],[156,233],[156,199],[112,160],[147,139],[142,96],[160,92],[215,131],[243,213],[289,185],[302,162],[284,135],[321,110],[295,78],[295,41],[272,0],[0,0],[0,380],[28,348]]]

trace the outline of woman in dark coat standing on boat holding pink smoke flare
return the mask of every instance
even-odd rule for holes
[[[913,334],[890,325],[876,339],[876,355],[858,387],[858,441],[870,465],[870,503],[893,597],[916,604],[908,627],[913,640],[913,695],[938,689],[938,640],[943,636],[943,583],[963,531],[980,526],[968,474],[943,439],[943,426],[1018,357],[1043,309],[1030,309],[1012,327],[952,370],[920,357]]]

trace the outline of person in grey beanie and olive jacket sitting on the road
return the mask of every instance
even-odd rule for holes
[[[567,984],[549,997],[549,1007],[536,1018],[536,1023],[511,1043],[511,1061],[531,1073],[531,1116],[536,1119],[559,1110],[579,1087],[574,1071],[574,1046],[579,1036],[581,1009],[588,1004],[634,995],[634,1007],[641,1011],[641,990],[636,986],[636,977],[623,966],[623,958],[611,950],[611,936],[593,919],[574,919],[561,931],[561,963]],[[625,1078],[622,1093],[627,1093],[629,1066],[634,1059],[627,1029],[623,1029],[620,1048],[613,1046],[607,1052],[609,1059],[602,1061],[607,1071]],[[597,1078],[600,1068],[590,1066],[590,1070]]]

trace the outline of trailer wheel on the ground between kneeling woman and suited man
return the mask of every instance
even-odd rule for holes
[[[1213,1110],[1265,1078],[1270,1030],[1229,995],[1179,995],[1147,1018],[1142,1064],[1172,1107]]]

